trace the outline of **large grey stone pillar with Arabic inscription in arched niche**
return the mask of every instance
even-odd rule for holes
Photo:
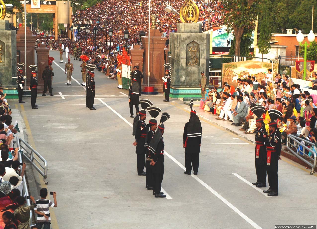
[[[170,33],[172,98],[201,98],[201,71],[209,82],[210,34],[202,32],[202,24],[178,23],[177,33]]]

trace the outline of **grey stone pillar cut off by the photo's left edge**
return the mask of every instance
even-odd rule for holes
[[[9,30],[9,21],[0,20],[0,82],[16,85],[16,31]]]

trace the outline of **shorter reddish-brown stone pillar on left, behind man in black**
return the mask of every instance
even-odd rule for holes
[[[44,88],[42,73],[45,70],[45,66],[48,65],[49,48],[46,48],[45,44],[40,44],[40,47],[35,50],[37,56],[37,94],[42,94]]]

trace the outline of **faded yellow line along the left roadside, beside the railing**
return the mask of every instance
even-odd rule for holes
[[[16,105],[17,106],[17,105]],[[34,144],[34,140],[33,140],[33,136],[32,136],[32,132],[31,132],[31,129],[30,129],[30,125],[29,125],[29,122],[28,122],[28,119],[26,117],[26,113],[25,113],[25,110],[24,110],[24,106],[21,104],[21,114],[22,114],[22,117],[23,117],[23,120],[24,120],[24,124],[25,124],[25,129],[26,129],[26,132],[28,134],[28,142],[29,142],[29,145],[36,150],[35,148],[35,144]],[[36,155],[35,155],[36,156]],[[41,187],[42,188],[47,188],[47,185],[44,183],[44,180],[43,180],[43,177],[40,175],[40,173],[37,173],[38,176],[39,176],[39,180],[40,180],[40,183],[41,183]],[[38,193],[37,193],[38,194]],[[49,195],[47,196],[47,199],[49,199]],[[52,209],[50,209],[49,211],[50,215],[51,215],[51,224],[52,224],[52,228],[54,229],[59,229],[58,227],[58,223],[57,223],[57,219],[56,219],[56,216],[55,216],[55,212]]]

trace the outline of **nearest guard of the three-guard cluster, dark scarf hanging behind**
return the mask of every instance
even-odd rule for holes
[[[154,178],[153,195],[158,198],[165,198],[166,195],[161,192],[162,181],[164,176],[164,124],[159,124],[158,130],[155,132],[154,137],[149,145],[149,152],[152,161],[150,165],[153,166],[152,173]]]

